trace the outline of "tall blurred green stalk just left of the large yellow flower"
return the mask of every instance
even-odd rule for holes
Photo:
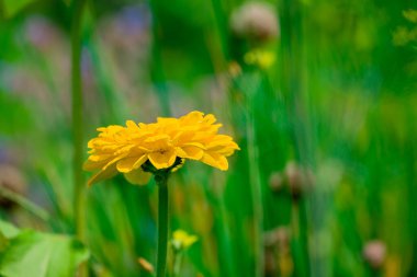
[[[74,135],[74,216],[78,239],[83,239],[86,185],[82,177],[81,22],[84,0],[74,0],[71,20],[71,92]]]

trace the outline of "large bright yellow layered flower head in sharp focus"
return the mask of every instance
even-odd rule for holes
[[[227,157],[239,150],[233,138],[218,135],[221,124],[212,114],[191,112],[180,118],[159,117],[153,124],[126,122],[126,127],[98,128],[88,142],[90,157],[83,168],[97,173],[88,184],[125,174],[134,184],[146,184],[150,173],[174,171],[184,159],[198,160],[219,170],[228,169]]]

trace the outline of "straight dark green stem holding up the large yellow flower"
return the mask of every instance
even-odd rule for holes
[[[158,256],[157,277],[165,277],[168,251],[168,173],[155,177],[158,192]]]

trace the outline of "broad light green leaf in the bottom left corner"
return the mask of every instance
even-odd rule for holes
[[[89,251],[70,236],[25,230],[1,253],[0,276],[72,277],[88,257]]]

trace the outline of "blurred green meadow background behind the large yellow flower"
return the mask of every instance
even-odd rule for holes
[[[75,233],[74,1],[0,1],[1,218],[59,234]],[[97,127],[213,113],[241,151],[170,181],[171,230],[199,236],[180,276],[417,276],[415,4],[89,0],[84,158]],[[155,182],[86,199],[89,275],[149,276]]]

